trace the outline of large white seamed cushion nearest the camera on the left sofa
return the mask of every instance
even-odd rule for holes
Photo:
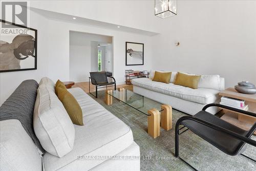
[[[42,147],[50,154],[62,157],[74,145],[74,125],[54,91],[40,86],[34,108],[33,126]]]

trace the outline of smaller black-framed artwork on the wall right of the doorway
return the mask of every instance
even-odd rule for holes
[[[136,42],[125,42],[125,65],[144,65],[144,44]]]

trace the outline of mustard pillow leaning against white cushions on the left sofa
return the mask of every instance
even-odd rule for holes
[[[69,117],[72,120],[72,122],[76,125],[83,125],[82,109],[76,101],[75,97],[66,89],[65,84],[58,80],[55,89],[59,100],[64,105],[64,108],[69,114]]]

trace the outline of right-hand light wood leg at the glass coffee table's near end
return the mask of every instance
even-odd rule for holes
[[[168,131],[172,129],[172,119],[173,119],[173,111],[172,106],[168,104],[161,105],[161,127]]]

